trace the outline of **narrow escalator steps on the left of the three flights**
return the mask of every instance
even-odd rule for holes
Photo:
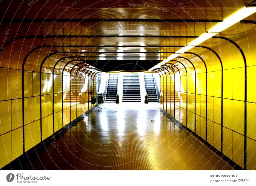
[[[105,102],[116,102],[118,74],[110,73],[108,76],[108,88]]]

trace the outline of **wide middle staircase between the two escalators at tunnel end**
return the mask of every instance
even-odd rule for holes
[[[141,102],[140,80],[136,73],[124,73],[123,102]]]

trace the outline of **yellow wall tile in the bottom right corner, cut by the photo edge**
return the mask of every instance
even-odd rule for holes
[[[247,153],[246,153],[246,160],[247,160],[247,165],[246,169],[247,170],[256,170],[256,141],[247,138]]]

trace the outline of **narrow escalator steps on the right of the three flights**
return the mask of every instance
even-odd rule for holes
[[[156,94],[156,86],[154,81],[154,76],[152,73],[145,73],[145,88],[148,94],[148,103],[157,103],[157,94]]]

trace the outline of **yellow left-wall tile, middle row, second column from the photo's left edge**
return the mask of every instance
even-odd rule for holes
[[[22,99],[12,100],[12,130],[22,126]]]

